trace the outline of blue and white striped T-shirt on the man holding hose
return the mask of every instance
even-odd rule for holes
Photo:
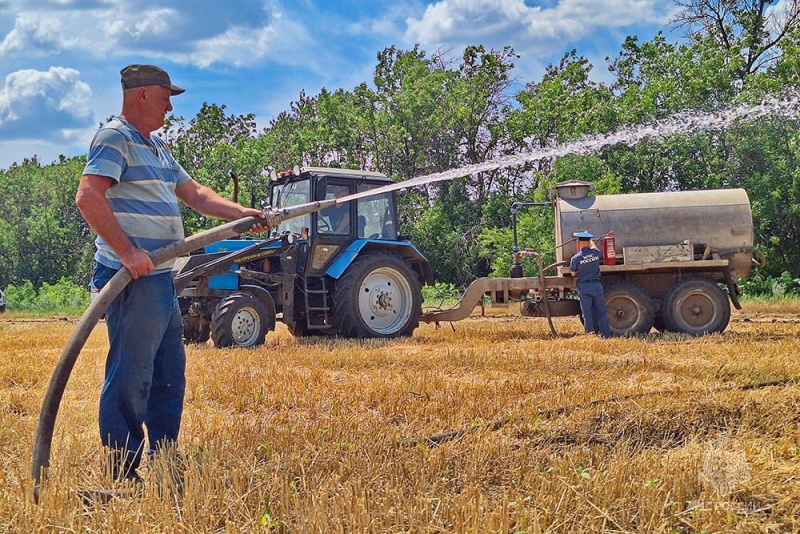
[[[134,246],[151,251],[183,239],[175,188],[191,178],[159,137],[148,139],[124,119],[114,117],[95,134],[83,174],[114,180],[106,198]],[[122,267],[117,253],[101,237],[95,244],[97,262]],[[157,265],[155,272],[169,270],[172,263]]]

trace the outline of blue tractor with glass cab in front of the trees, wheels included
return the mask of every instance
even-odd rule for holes
[[[375,172],[295,168],[270,183],[285,208],[392,184]],[[419,326],[430,263],[398,233],[394,191],[288,219],[266,239],[228,239],[173,270],[184,339],[217,347],[264,343],[281,320],[295,336],[390,338]]]

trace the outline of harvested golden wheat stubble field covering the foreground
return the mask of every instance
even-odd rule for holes
[[[0,316],[7,532],[800,530],[800,308],[746,305],[722,335],[601,340],[490,311],[412,338],[187,348],[182,494],[145,464],[107,485],[106,337],[67,385],[34,504],[32,441],[77,318]]]

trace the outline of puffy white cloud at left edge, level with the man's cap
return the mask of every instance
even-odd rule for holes
[[[19,70],[0,88],[0,133],[58,138],[63,129],[92,122],[92,91],[75,69]]]

